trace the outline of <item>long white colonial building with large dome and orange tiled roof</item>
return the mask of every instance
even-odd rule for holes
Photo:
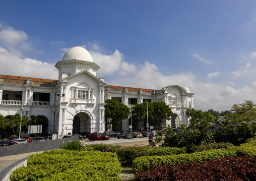
[[[82,47],[69,49],[55,67],[58,80],[0,74],[0,114],[5,117],[21,114],[24,107],[23,115],[46,117],[48,134],[57,132],[61,138],[68,134],[104,132],[106,99],[117,99],[130,108],[146,99],[166,102],[174,114],[162,126],[172,127],[187,124],[186,109],[194,107],[194,93],[187,87],[171,85],[153,90],[107,85],[104,78],[96,77],[100,67]],[[128,119],[115,129],[129,129]]]

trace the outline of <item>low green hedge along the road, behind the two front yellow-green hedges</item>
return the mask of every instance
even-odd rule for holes
[[[135,158],[141,156],[164,156],[164,155],[178,155],[186,152],[183,148],[172,147],[121,147],[105,144],[93,144],[85,147],[86,150],[99,150],[106,152],[115,152],[119,158],[119,161],[126,161],[127,164],[132,165]]]

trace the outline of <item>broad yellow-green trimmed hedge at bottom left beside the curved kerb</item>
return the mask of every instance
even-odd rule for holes
[[[121,170],[115,153],[52,150],[31,155],[10,180],[119,180]]]

